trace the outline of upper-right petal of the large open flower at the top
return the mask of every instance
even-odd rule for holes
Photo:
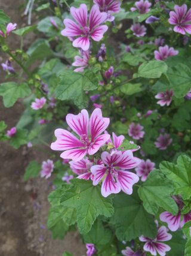
[[[90,11],[90,31],[107,19],[107,13],[101,13],[98,5],[93,5]]]

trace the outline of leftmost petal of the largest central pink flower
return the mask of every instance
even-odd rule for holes
[[[57,140],[51,143],[51,149],[53,150],[66,150],[73,149],[73,147],[84,147],[84,144],[66,129],[56,129],[54,134],[57,137]]]

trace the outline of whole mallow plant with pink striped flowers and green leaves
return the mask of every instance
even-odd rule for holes
[[[190,256],[190,1],[39,0],[24,14],[19,28],[0,10],[0,95],[24,105],[0,138],[46,152],[23,179],[53,183],[53,239],[78,230],[87,256]]]

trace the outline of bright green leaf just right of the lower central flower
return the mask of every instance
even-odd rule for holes
[[[172,182],[166,179],[161,171],[153,170],[146,182],[138,189],[138,194],[147,212],[156,215],[159,207],[162,207],[173,215],[177,215],[178,207],[171,197],[173,191]]]

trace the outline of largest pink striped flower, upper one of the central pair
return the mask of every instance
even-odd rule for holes
[[[95,109],[90,119],[85,109],[78,115],[68,114],[66,122],[79,138],[66,129],[56,129],[57,140],[51,144],[51,149],[66,150],[61,153],[61,158],[77,162],[87,153],[94,155],[110,138],[109,134],[100,135],[109,125],[109,118],[103,118],[100,109]]]

